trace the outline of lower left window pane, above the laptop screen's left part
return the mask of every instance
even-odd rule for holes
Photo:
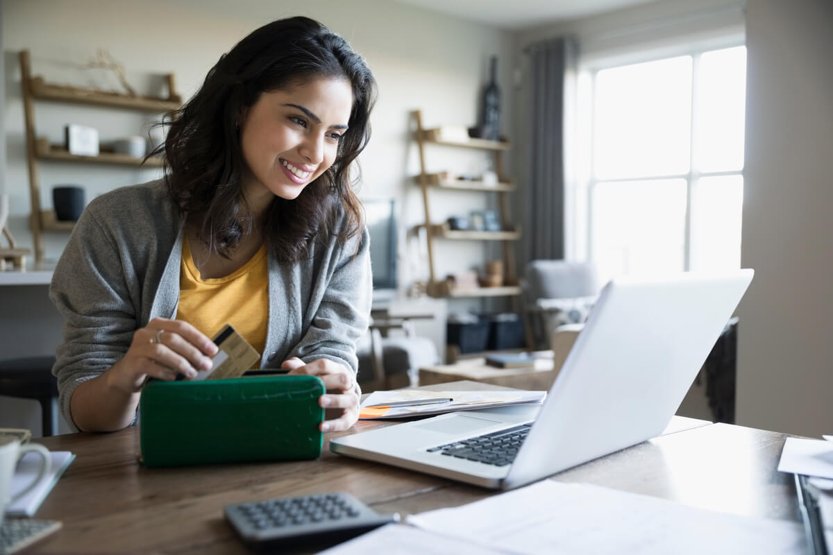
[[[686,181],[598,183],[592,196],[592,252],[603,280],[684,270]]]

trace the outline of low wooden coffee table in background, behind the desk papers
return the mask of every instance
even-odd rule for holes
[[[462,359],[454,364],[429,366],[419,370],[420,385],[471,380],[481,384],[502,385],[515,389],[547,391],[556,380],[552,359],[538,359],[534,366],[496,368],[486,359]]]

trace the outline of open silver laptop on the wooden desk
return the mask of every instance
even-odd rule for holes
[[[441,414],[332,439],[330,449],[510,489],[656,437],[752,275],[612,280],[543,404]]]

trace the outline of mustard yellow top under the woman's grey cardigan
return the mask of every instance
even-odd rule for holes
[[[203,280],[186,235],[182,240],[177,320],[186,321],[208,337],[230,324],[262,355],[269,320],[268,273],[264,241],[252,259],[238,270],[222,278]],[[258,360],[254,367],[259,366]]]

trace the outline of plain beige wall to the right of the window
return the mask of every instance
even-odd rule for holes
[[[748,0],[737,419],[833,429],[833,2]]]

